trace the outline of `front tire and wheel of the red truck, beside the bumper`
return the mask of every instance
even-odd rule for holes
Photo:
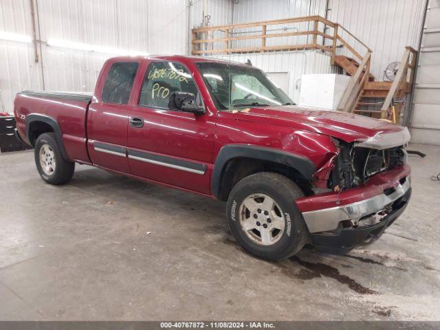
[[[227,204],[236,241],[251,254],[270,261],[296,254],[309,241],[309,230],[294,202],[303,196],[294,181],[278,173],[262,172],[241,179]]]

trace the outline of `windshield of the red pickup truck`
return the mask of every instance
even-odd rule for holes
[[[217,109],[294,104],[260,69],[229,63],[197,63]]]

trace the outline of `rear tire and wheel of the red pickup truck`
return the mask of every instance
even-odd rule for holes
[[[34,155],[36,169],[48,184],[65,184],[72,179],[75,163],[63,158],[54,133],[43,133],[38,137]]]

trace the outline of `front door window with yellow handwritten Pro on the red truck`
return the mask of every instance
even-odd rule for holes
[[[176,62],[153,62],[146,70],[139,104],[168,109],[168,100],[173,91],[185,91],[199,98],[194,80],[184,65]]]

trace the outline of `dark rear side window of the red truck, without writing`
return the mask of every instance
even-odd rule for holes
[[[102,102],[127,104],[137,67],[139,67],[137,62],[113,63],[107,73],[107,78],[105,78]]]

